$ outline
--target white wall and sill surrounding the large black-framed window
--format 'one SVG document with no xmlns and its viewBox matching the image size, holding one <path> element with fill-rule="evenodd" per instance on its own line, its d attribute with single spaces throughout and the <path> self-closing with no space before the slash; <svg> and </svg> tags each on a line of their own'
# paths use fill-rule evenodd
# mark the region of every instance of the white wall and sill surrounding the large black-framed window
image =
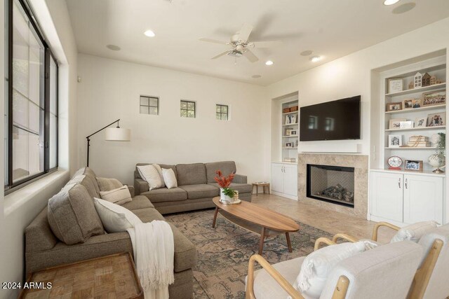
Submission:
<svg viewBox="0 0 449 299">
<path fill-rule="evenodd" d="M 4 197 L 0 185 L 0 281 L 24 279 L 24 230 L 32 219 L 45 207 L 50 198 L 64 185 L 69 170 L 74 172 L 76 155 L 69 148 L 76 148 L 76 57 L 77 50 L 65 1 L 32 0 L 36 16 L 46 33 L 49 43 L 60 62 L 59 74 L 59 157 L 60 170 L 39 181 Z M 0 57 L 4 57 L 4 0 L 0 0 Z M 0 77 L 4 78 L 4 60 L 1 60 Z M 0 84 L 0 113 L 4 110 L 4 85 Z M 70 110 L 69 110 L 70 109 Z M 4 122 L 0 122 L 4 132 Z M 70 138 L 69 138 L 70 134 Z M 0 146 L 0 156 L 4 148 Z M 4 159 L 0 159 L 0 181 L 4 181 Z M 15 298 L 18 290 L 0 291 L 0 298 Z"/>
</svg>

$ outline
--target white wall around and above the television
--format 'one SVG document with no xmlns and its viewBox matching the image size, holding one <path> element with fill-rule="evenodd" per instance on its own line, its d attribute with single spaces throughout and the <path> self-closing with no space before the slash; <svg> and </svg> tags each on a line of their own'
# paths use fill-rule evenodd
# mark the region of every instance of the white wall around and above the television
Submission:
<svg viewBox="0 0 449 299">
<path fill-rule="evenodd" d="M 355 148 L 356 144 L 362 144 L 361 153 L 368 155 L 370 153 L 370 101 L 372 100 L 370 98 L 371 70 L 448 48 L 448 36 L 449 18 L 446 18 L 269 85 L 269 97 L 273 99 L 299 90 L 300 106 L 307 106 L 361 95 L 361 140 L 307 141 L 300 143 L 298 151 L 302 151 L 302 148 L 307 148 L 307 151 L 322 151 L 324 147 L 351 149 Z"/>
</svg>

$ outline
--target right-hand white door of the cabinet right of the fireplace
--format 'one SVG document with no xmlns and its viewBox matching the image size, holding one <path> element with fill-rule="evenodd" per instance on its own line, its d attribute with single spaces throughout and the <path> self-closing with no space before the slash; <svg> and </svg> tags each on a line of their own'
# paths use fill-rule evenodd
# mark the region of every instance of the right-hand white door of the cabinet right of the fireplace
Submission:
<svg viewBox="0 0 449 299">
<path fill-rule="evenodd" d="M 404 222 L 443 223 L 443 178 L 404 175 Z"/>
</svg>

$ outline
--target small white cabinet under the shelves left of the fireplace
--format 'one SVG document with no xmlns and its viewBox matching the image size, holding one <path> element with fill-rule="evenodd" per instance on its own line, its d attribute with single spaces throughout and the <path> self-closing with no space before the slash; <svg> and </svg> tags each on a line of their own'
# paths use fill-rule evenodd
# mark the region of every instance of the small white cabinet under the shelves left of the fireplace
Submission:
<svg viewBox="0 0 449 299">
<path fill-rule="evenodd" d="M 272 193 L 297 200 L 297 165 L 272 163 Z"/>
</svg>

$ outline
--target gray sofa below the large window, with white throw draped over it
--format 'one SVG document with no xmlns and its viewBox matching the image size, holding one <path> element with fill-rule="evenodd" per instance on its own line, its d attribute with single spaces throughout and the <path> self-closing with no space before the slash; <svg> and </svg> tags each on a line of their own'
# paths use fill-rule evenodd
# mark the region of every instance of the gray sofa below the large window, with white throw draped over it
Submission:
<svg viewBox="0 0 449 299">
<path fill-rule="evenodd" d="M 79 182 L 80 188 L 86 191 L 84 194 L 88 197 L 100 198 L 100 189 L 95 179 L 95 173 L 86 167 L 79 174 L 85 176 Z M 133 195 L 132 189 L 130 188 L 131 195 Z M 122 206 L 133 211 L 144 222 L 164 220 L 159 211 L 154 209 L 152 202 L 143 195 L 134 196 L 132 201 Z M 192 298 L 194 281 L 192 268 L 196 265 L 196 248 L 185 235 L 182 235 L 175 225 L 169 224 L 173 230 L 175 243 L 175 282 L 168 287 L 169 295 L 170 298 Z M 48 223 L 47 207 L 25 229 L 25 266 L 27 274 L 46 267 L 122 252 L 129 252 L 133 255 L 133 246 L 128 232 L 93 235 L 88 237 L 85 242 L 73 245 L 61 242 L 55 236 Z"/>
</svg>

